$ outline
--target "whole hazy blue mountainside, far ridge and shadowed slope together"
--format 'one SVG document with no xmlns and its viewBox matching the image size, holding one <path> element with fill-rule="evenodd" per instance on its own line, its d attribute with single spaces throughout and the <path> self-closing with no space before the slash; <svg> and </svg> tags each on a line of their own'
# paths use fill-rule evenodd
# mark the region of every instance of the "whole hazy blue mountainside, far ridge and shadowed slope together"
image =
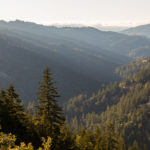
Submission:
<svg viewBox="0 0 150 150">
<path fill-rule="evenodd" d="M 145 52 L 130 54 L 146 46 L 150 47 L 146 37 L 92 27 L 57 28 L 19 20 L 1 21 L 1 86 L 12 82 L 26 103 L 35 100 L 42 70 L 49 66 L 65 101 L 118 80 L 115 68 L 143 56 Z"/>
</svg>

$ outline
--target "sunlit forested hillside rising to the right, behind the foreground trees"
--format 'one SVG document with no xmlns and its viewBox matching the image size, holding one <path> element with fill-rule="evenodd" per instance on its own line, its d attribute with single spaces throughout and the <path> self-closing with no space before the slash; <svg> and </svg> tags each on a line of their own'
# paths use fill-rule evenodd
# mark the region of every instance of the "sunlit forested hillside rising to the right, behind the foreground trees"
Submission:
<svg viewBox="0 0 150 150">
<path fill-rule="evenodd" d="M 72 130 L 104 128 L 110 121 L 122 132 L 127 145 L 137 141 L 140 149 L 149 149 L 150 141 L 150 57 L 117 69 L 119 83 L 104 86 L 91 97 L 79 95 L 64 106 Z"/>
</svg>

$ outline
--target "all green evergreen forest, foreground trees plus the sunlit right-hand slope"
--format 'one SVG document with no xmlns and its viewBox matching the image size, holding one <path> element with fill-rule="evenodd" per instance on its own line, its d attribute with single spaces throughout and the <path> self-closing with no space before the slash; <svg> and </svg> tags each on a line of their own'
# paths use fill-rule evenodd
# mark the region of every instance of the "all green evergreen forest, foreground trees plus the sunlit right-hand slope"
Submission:
<svg viewBox="0 0 150 150">
<path fill-rule="evenodd" d="M 12 84 L 0 92 L 2 150 L 149 150 L 150 57 L 116 69 L 113 82 L 62 108 L 47 67 L 37 103 L 25 108 Z"/>
</svg>

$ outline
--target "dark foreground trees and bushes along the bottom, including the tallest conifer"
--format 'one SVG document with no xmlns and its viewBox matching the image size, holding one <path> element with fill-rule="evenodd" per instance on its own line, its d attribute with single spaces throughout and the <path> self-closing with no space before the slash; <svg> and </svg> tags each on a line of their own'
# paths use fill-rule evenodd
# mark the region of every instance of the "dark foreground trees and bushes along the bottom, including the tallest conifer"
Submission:
<svg viewBox="0 0 150 150">
<path fill-rule="evenodd" d="M 38 104 L 26 110 L 13 85 L 0 92 L 0 149 L 126 150 L 124 139 L 111 123 L 95 131 L 73 133 L 65 125 L 59 94 L 49 68 L 40 83 Z M 9 134 L 12 133 L 12 134 Z M 21 143 L 23 142 L 23 143 Z M 130 149 L 137 148 L 133 143 Z M 39 148 L 40 147 L 40 148 Z"/>
</svg>

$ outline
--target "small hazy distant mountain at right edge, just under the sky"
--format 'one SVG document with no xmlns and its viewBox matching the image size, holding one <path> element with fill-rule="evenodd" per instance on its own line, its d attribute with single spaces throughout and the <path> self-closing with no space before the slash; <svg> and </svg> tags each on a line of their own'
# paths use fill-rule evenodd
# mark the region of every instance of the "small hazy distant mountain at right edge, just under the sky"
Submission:
<svg viewBox="0 0 150 150">
<path fill-rule="evenodd" d="M 150 38 L 150 24 L 141 25 L 141 26 L 137 26 L 134 28 L 129 28 L 129 29 L 121 31 L 121 33 L 125 33 L 128 35 L 146 36 Z"/>
</svg>

